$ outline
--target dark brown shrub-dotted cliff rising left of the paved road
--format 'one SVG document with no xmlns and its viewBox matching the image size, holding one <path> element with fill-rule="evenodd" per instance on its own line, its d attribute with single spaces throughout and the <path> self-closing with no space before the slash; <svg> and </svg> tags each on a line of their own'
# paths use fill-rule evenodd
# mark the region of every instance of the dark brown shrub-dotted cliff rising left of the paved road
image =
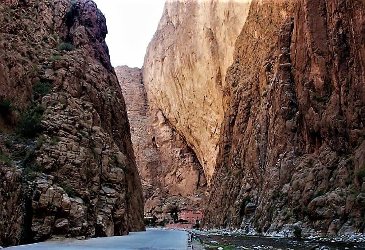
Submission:
<svg viewBox="0 0 365 250">
<path fill-rule="evenodd" d="M 144 230 L 122 93 L 91 0 L 0 3 L 0 245 Z"/>
</svg>

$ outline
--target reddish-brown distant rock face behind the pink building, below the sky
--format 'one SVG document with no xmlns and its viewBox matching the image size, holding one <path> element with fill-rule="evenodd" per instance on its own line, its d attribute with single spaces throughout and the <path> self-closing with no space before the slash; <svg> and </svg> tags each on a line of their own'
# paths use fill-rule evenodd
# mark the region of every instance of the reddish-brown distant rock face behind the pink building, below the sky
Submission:
<svg viewBox="0 0 365 250">
<path fill-rule="evenodd" d="M 119 66 L 115 72 L 127 104 L 144 212 L 158 215 L 167 207 L 201 208 L 206 180 L 194 151 L 147 100 L 141 70 Z"/>
</svg>

